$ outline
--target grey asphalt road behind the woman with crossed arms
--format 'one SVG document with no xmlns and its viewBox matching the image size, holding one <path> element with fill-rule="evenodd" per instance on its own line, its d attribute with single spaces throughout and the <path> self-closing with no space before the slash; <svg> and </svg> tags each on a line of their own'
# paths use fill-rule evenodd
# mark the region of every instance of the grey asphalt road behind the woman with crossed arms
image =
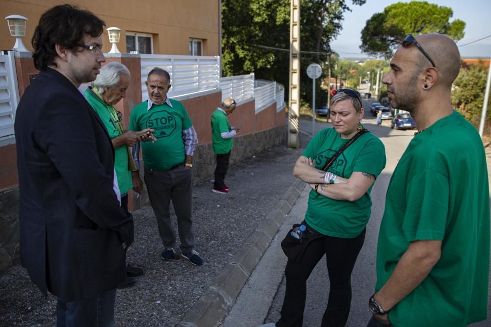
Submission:
<svg viewBox="0 0 491 327">
<path fill-rule="evenodd" d="M 369 107 L 371 102 L 373 100 L 364 101 L 364 106 Z M 377 239 L 385 204 L 385 193 L 390 176 L 414 133 L 411 130 L 390 129 L 390 121 L 388 120 L 383 121 L 382 126 L 377 126 L 375 117 L 369 111 L 365 113 L 362 123 L 381 138 L 385 145 L 387 164 L 372 189 L 372 215 L 367 225 L 365 244 L 358 255 L 352 276 L 353 299 L 346 325 L 348 327 L 366 326 L 370 319 L 371 314 L 367 311 L 367 301 L 375 288 Z M 327 127 L 331 127 L 331 125 L 316 122 L 315 129 L 318 132 Z M 302 120 L 300 128 L 310 134 L 312 130 L 311 121 Z M 309 137 L 310 135 L 303 132 L 302 136 Z M 488 154 L 488 162 L 491 162 L 490 154 Z M 223 327 L 255 327 L 279 319 L 284 298 L 284 267 L 286 264 L 286 257 L 279 244 L 290 226 L 302 220 L 306 210 L 308 191 L 309 187 L 307 186 L 243 288 L 235 305 L 224 320 Z M 325 259 L 321 259 L 307 281 L 307 302 L 303 326 L 320 326 L 327 305 L 328 285 Z M 488 320 L 472 326 L 491 326 L 491 303 L 488 305 Z"/>
</svg>

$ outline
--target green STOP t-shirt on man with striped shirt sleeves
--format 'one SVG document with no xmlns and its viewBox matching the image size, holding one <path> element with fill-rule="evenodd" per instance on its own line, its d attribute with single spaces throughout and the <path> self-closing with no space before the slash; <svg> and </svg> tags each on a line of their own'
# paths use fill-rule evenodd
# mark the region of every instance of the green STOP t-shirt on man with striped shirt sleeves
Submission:
<svg viewBox="0 0 491 327">
<path fill-rule="evenodd" d="M 170 100 L 172 107 L 167 103 L 153 104 L 150 110 L 148 102 L 138 104 L 130 116 L 130 129 L 142 130 L 153 128 L 155 142 L 142 142 L 143 161 L 145 167 L 159 171 L 184 162 L 185 147 L 183 130 L 192 126 L 184 105 L 176 100 Z"/>
</svg>

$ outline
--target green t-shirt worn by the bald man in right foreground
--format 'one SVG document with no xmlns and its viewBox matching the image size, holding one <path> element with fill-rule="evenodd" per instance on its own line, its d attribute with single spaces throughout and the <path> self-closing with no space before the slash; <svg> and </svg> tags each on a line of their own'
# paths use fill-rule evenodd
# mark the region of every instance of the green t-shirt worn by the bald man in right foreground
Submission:
<svg viewBox="0 0 491 327">
<path fill-rule="evenodd" d="M 441 257 L 390 310 L 392 326 L 460 327 L 485 320 L 488 170 L 476 128 L 456 111 L 414 136 L 392 175 L 379 233 L 377 290 L 417 240 L 441 240 Z"/>
</svg>

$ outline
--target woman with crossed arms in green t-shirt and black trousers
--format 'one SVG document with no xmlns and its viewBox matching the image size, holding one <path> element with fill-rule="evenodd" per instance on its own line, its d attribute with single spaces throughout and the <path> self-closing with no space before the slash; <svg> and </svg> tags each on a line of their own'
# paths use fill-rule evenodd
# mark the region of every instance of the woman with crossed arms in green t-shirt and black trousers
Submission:
<svg viewBox="0 0 491 327">
<path fill-rule="evenodd" d="M 295 164 L 293 175 L 312 188 L 302 225 L 307 227 L 307 235 L 313 230 L 317 236 L 311 236 L 300 259 L 288 258 L 281 318 L 263 327 L 302 326 L 306 282 L 324 255 L 330 288 L 321 326 L 346 325 L 351 308 L 351 274 L 371 213 L 370 192 L 385 167 L 382 141 L 370 132 L 362 132 L 364 112 L 357 91 L 337 90 L 329 104 L 333 128 L 317 133 Z M 335 153 L 358 132 L 364 134 L 324 171 Z"/>
</svg>

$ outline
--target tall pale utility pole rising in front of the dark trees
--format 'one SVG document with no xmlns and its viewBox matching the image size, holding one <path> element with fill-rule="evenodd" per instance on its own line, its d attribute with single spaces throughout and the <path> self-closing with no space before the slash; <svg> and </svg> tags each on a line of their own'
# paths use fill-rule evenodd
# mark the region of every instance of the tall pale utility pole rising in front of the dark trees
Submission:
<svg viewBox="0 0 491 327">
<path fill-rule="evenodd" d="M 298 149 L 300 117 L 300 0 L 290 2 L 290 85 L 288 86 L 288 147 Z"/>
</svg>

